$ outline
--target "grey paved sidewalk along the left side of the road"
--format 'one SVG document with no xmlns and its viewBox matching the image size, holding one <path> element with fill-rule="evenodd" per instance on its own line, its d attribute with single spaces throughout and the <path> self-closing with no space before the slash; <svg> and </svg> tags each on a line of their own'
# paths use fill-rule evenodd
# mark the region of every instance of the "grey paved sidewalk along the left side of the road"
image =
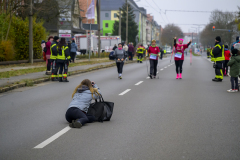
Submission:
<svg viewBox="0 0 240 160">
<path fill-rule="evenodd" d="M 88 60 L 77 60 L 76 62 L 84 62 Z M 83 65 L 83 66 L 75 66 L 75 67 L 69 67 L 69 72 L 72 71 L 80 71 L 80 70 L 86 70 L 92 67 L 97 67 L 101 65 L 109 65 L 113 64 L 115 61 L 109 61 L 109 62 L 103 62 L 103 63 L 97 63 L 97 64 L 91 64 L 91 65 Z M 39 67 L 39 66 L 27 66 L 27 67 L 13 67 L 13 68 L 3 68 L 0 69 L 0 72 L 6 72 L 6 71 L 12 71 L 12 70 L 19 70 L 19 69 L 28 69 L 28 68 L 34 68 L 34 67 Z M 42 66 L 41 66 L 42 67 Z M 13 76 L 10 78 L 2 78 L 0 79 L 0 87 L 6 86 L 6 85 L 11 85 L 13 83 L 16 83 L 21 80 L 26 80 L 26 79 L 38 79 L 38 78 L 48 78 L 50 77 L 49 75 L 45 75 L 45 71 L 43 72 L 36 72 L 36 73 L 29 73 L 25 75 L 20 75 L 20 76 Z"/>
</svg>

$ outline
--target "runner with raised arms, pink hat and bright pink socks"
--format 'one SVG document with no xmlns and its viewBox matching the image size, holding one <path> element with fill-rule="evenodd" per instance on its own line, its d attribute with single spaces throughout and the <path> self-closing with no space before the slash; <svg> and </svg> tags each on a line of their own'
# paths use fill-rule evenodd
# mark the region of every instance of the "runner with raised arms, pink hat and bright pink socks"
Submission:
<svg viewBox="0 0 240 160">
<path fill-rule="evenodd" d="M 192 43 L 192 40 L 188 42 L 188 44 L 183 44 L 183 39 L 178 40 L 178 44 L 176 43 L 177 37 L 174 38 L 174 47 L 175 47 L 175 65 L 176 65 L 176 79 L 182 79 L 182 65 L 184 61 L 184 50 L 188 48 L 188 46 Z M 179 74 L 180 73 L 180 74 Z"/>
</svg>

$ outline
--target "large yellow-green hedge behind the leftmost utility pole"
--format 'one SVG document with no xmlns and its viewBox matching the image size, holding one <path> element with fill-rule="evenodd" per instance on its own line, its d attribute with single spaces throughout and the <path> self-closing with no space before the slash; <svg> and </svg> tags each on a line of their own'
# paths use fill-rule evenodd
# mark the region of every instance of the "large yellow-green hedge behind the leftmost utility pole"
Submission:
<svg viewBox="0 0 240 160">
<path fill-rule="evenodd" d="M 0 31 L 0 36 L 5 38 L 8 23 L 10 21 L 10 17 L 6 17 L 6 15 L 0 15 L 0 22 L 2 30 Z M 36 22 L 36 18 L 33 18 L 33 58 L 40 59 L 42 57 L 42 49 L 41 49 L 41 41 L 45 40 L 47 37 L 47 33 L 45 28 L 43 27 L 43 21 Z M 1 37 L 0 37 L 1 38 Z M 13 16 L 12 23 L 10 27 L 10 32 L 8 39 L 13 43 L 13 47 L 15 49 L 15 57 L 12 59 L 15 60 L 26 60 L 28 59 L 29 53 L 29 20 L 28 18 L 22 19 L 20 17 Z M 5 53 L 6 54 L 6 53 Z M 1 55 L 0 55 L 1 56 Z M 1 59 L 2 60 L 2 59 Z"/>
</svg>

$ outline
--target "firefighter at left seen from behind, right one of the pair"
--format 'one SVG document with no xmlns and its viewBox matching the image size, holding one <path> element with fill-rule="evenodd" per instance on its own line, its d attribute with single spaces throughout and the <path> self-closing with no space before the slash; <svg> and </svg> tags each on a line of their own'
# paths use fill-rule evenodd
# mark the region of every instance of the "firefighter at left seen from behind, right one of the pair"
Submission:
<svg viewBox="0 0 240 160">
<path fill-rule="evenodd" d="M 70 51 L 65 38 L 61 38 L 57 46 L 57 49 L 58 49 L 58 55 L 57 55 L 56 62 L 57 62 L 57 68 L 59 68 L 58 80 L 59 82 L 69 82 L 67 80 L 67 72 L 68 72 L 69 61 L 71 62 L 71 57 L 70 57 Z"/>
</svg>

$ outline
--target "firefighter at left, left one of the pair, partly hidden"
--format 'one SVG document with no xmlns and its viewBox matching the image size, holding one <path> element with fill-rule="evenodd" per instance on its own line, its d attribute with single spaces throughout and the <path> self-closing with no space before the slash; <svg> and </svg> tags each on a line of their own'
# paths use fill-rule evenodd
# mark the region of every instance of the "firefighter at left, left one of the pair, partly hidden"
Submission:
<svg viewBox="0 0 240 160">
<path fill-rule="evenodd" d="M 52 81 L 58 81 L 58 77 L 57 77 L 58 68 L 56 66 L 56 58 L 58 54 L 58 51 L 57 51 L 58 41 L 59 41 L 59 37 L 55 36 L 53 38 L 53 42 L 51 43 L 51 47 L 50 47 L 51 55 L 50 55 L 50 58 L 48 59 L 48 63 L 51 64 L 51 68 L 52 68 L 52 75 L 51 75 Z"/>
</svg>

